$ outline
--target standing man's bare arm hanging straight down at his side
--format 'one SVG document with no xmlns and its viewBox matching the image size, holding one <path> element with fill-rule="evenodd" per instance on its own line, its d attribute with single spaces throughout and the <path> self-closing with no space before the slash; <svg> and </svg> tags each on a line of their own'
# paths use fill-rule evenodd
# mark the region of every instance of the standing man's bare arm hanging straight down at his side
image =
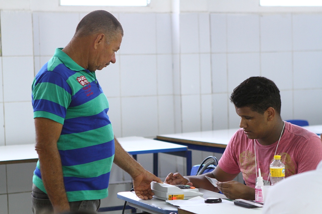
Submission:
<svg viewBox="0 0 322 214">
<path fill-rule="evenodd" d="M 62 162 L 57 141 L 62 132 L 62 124 L 53 120 L 36 117 L 36 151 L 46 192 L 55 213 L 69 211 L 69 203 L 64 187 Z"/>
</svg>

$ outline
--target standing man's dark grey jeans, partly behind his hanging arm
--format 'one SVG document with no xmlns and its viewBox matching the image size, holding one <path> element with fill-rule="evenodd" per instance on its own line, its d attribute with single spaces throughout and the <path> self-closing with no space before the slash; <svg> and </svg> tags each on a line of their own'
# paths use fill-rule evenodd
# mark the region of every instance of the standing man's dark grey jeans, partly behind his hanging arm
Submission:
<svg viewBox="0 0 322 214">
<path fill-rule="evenodd" d="M 32 210 L 34 214 L 52 214 L 53 208 L 48 195 L 33 184 L 31 193 Z M 100 206 L 100 200 L 86 200 L 69 202 L 72 212 L 82 211 L 96 214 Z"/>
</svg>

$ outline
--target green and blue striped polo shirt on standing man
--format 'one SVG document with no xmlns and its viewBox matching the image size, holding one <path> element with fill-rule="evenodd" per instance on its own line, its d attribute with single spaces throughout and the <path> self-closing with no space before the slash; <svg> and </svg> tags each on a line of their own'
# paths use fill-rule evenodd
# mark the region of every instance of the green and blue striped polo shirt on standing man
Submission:
<svg viewBox="0 0 322 214">
<path fill-rule="evenodd" d="M 95 72 L 85 70 L 57 48 L 34 78 L 32 91 L 34 118 L 63 124 L 57 147 L 68 201 L 107 197 L 114 134 L 107 115 L 109 103 Z M 33 183 L 46 193 L 40 164 Z"/>
</svg>

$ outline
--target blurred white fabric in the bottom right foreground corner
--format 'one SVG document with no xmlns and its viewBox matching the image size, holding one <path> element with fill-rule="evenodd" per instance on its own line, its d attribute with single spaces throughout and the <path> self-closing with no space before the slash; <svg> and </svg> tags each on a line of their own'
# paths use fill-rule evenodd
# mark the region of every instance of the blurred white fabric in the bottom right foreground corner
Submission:
<svg viewBox="0 0 322 214">
<path fill-rule="evenodd" d="M 270 189 L 263 214 L 321 213 L 322 161 L 316 170 L 292 175 Z"/>
</svg>

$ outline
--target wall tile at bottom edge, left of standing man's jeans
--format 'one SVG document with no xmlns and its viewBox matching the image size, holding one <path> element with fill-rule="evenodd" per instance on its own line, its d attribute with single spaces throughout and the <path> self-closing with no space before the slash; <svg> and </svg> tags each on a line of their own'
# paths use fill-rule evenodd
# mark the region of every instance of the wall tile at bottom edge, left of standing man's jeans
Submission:
<svg viewBox="0 0 322 214">
<path fill-rule="evenodd" d="M 8 195 L 9 213 L 32 214 L 30 193 L 14 193 Z"/>
</svg>

